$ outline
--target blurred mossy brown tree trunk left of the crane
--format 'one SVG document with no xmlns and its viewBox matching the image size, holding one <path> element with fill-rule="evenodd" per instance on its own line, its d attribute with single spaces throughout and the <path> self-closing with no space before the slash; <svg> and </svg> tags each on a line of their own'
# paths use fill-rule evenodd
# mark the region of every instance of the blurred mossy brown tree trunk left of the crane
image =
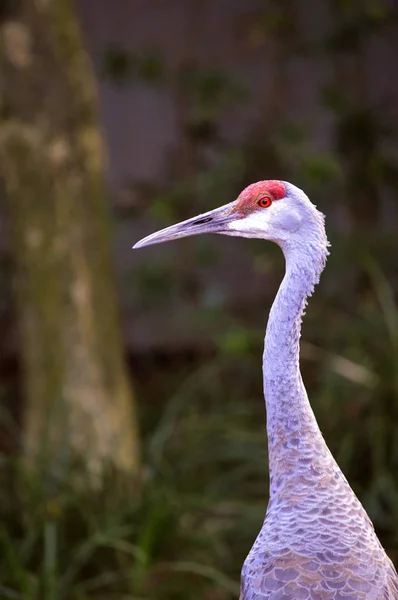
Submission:
<svg viewBox="0 0 398 600">
<path fill-rule="evenodd" d="M 69 0 L 0 4 L 0 168 L 24 365 L 25 449 L 137 472 L 94 84 Z"/>
</svg>

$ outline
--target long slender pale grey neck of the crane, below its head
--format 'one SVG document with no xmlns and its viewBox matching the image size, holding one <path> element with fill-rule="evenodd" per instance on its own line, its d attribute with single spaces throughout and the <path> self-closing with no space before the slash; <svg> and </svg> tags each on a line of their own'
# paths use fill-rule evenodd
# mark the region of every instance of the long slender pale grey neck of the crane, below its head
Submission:
<svg viewBox="0 0 398 600">
<path fill-rule="evenodd" d="M 319 221 L 314 238 L 283 244 L 286 273 L 270 311 L 264 342 L 263 377 L 267 408 L 270 497 L 303 484 L 303 473 L 340 471 L 308 401 L 299 364 L 301 321 L 328 254 Z M 318 216 L 317 215 L 317 216 Z M 321 227 L 319 227 L 321 225 Z M 323 466 L 322 466 L 323 465 Z"/>
</svg>

